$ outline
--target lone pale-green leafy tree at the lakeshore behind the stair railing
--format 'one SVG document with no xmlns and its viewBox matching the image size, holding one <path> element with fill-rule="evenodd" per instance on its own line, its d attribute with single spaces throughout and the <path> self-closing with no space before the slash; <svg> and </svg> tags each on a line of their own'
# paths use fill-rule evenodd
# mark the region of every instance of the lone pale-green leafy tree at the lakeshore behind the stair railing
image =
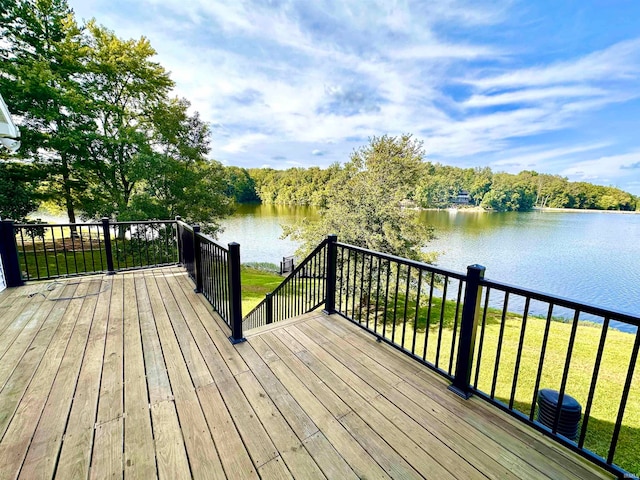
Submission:
<svg viewBox="0 0 640 480">
<path fill-rule="evenodd" d="M 411 135 L 371 138 L 354 151 L 328 191 L 317 222 L 285 229 L 309 251 L 327 234 L 340 241 L 394 255 L 426 259 L 432 229 L 401 202 L 415 190 L 424 164 L 422 143 Z"/>
</svg>

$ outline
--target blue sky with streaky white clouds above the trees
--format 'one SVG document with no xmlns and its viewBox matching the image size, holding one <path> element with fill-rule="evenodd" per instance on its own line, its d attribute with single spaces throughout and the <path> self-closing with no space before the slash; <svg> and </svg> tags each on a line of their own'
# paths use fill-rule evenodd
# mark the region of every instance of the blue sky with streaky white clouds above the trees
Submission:
<svg viewBox="0 0 640 480">
<path fill-rule="evenodd" d="M 146 36 L 241 167 L 328 166 L 372 135 L 427 159 L 640 195 L 640 1 L 70 0 Z"/>
</svg>

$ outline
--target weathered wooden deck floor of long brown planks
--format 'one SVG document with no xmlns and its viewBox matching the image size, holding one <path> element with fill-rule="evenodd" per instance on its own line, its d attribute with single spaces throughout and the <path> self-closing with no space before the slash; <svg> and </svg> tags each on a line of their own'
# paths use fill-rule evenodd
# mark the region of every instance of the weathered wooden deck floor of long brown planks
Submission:
<svg viewBox="0 0 640 480">
<path fill-rule="evenodd" d="M 608 477 L 341 318 L 232 346 L 179 268 L 6 290 L 0 332 L 2 479 Z"/>
</svg>

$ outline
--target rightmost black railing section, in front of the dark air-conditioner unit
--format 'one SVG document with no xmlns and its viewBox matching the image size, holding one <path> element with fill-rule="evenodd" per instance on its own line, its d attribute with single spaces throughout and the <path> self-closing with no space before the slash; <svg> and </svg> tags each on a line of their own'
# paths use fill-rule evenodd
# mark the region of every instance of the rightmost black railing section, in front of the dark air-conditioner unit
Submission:
<svg viewBox="0 0 640 480">
<path fill-rule="evenodd" d="M 616 452 L 622 448 L 628 459 L 635 451 L 637 469 L 640 318 L 499 282 L 479 284 L 473 392 L 617 474 L 625 474 L 617 465 L 632 465 L 616 461 Z M 576 400 L 580 422 L 567 426 L 560 408 L 541 415 L 542 389 L 557 392 L 558 405 Z"/>
</svg>

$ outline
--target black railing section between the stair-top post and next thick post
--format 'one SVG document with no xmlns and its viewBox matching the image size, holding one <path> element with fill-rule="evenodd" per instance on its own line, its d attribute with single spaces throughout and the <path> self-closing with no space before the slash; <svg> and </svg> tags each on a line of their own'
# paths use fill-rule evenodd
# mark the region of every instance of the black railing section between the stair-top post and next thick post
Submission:
<svg viewBox="0 0 640 480">
<path fill-rule="evenodd" d="M 465 276 L 337 243 L 335 311 L 453 379 Z"/>
</svg>

